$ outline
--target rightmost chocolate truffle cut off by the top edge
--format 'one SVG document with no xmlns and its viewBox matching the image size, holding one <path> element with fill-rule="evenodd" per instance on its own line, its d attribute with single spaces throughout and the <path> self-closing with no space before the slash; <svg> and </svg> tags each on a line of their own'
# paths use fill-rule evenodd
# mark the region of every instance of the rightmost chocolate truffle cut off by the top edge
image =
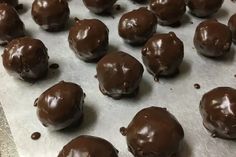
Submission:
<svg viewBox="0 0 236 157">
<path fill-rule="evenodd" d="M 190 12 L 197 17 L 207 17 L 216 13 L 224 0 L 186 0 Z"/>
</svg>

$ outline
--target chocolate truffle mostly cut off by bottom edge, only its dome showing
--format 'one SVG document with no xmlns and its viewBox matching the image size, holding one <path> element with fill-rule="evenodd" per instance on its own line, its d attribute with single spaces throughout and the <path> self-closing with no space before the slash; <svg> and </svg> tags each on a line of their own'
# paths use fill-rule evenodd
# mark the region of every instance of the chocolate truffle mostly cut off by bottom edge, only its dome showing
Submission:
<svg viewBox="0 0 236 157">
<path fill-rule="evenodd" d="M 118 151 L 105 139 L 81 135 L 60 151 L 58 157 L 118 157 Z"/>
</svg>

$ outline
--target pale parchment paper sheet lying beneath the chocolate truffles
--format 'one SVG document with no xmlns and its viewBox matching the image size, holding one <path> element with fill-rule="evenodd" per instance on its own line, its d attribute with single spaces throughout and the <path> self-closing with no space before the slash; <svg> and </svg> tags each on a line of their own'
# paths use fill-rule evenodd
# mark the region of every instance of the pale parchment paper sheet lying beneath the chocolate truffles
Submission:
<svg viewBox="0 0 236 157">
<path fill-rule="evenodd" d="M 30 16 L 31 1 L 21 0 L 26 12 L 21 14 L 28 34 L 41 39 L 48 47 L 51 63 L 58 63 L 58 70 L 50 70 L 46 79 L 34 84 L 10 77 L 0 66 L 0 101 L 5 111 L 18 153 L 21 157 L 53 157 L 71 139 L 81 135 L 95 135 L 109 140 L 118 150 L 120 157 L 132 157 L 128 152 L 125 137 L 119 133 L 121 126 L 127 126 L 135 113 L 144 107 L 166 107 L 176 116 L 185 131 L 181 157 L 235 157 L 236 142 L 212 138 L 202 125 L 199 114 L 199 101 L 203 93 L 217 86 L 235 87 L 236 63 L 232 46 L 231 53 L 224 59 L 214 61 L 199 56 L 193 46 L 193 35 L 201 19 L 186 13 L 179 28 L 157 27 L 158 33 L 174 31 L 183 40 L 185 58 L 180 74 L 175 78 L 161 79 L 159 83 L 144 72 L 140 91 L 136 98 L 113 100 L 101 94 L 98 81 L 94 78 L 96 64 L 85 63 L 75 57 L 69 49 L 67 31 L 48 33 L 41 30 Z M 115 11 L 114 17 L 97 16 L 90 13 L 81 0 L 69 1 L 71 18 L 98 18 L 110 29 L 110 50 L 122 50 L 141 61 L 140 47 L 124 44 L 118 36 L 117 24 L 122 12 L 142 5 L 127 0 L 118 0 L 121 11 Z M 227 0 L 222 9 L 214 15 L 220 22 L 227 23 L 236 11 L 236 3 Z M 192 23 L 193 22 L 193 23 Z M 1 51 L 3 49 L 1 48 Z M 33 106 L 35 98 L 60 80 L 78 83 L 84 89 L 85 118 L 83 124 L 74 129 L 52 132 L 44 128 L 36 116 Z M 200 90 L 193 85 L 199 83 Z M 41 133 L 38 141 L 30 136 Z"/>
</svg>

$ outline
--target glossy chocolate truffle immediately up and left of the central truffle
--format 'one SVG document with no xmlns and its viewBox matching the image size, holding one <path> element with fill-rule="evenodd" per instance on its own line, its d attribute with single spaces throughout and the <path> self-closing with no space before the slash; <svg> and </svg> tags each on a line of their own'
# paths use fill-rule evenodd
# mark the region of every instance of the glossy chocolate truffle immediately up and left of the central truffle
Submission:
<svg viewBox="0 0 236 157">
<path fill-rule="evenodd" d="M 94 61 L 105 55 L 108 49 L 107 26 L 97 19 L 76 20 L 70 29 L 68 41 L 77 57 Z"/>
</svg>

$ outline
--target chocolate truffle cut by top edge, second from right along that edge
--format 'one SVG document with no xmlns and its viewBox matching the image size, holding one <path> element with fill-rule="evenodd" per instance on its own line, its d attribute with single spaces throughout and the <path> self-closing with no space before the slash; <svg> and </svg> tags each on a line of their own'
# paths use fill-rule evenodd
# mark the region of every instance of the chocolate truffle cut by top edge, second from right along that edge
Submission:
<svg viewBox="0 0 236 157">
<path fill-rule="evenodd" d="M 185 0 L 150 0 L 149 6 L 161 25 L 179 22 L 186 11 Z"/>
</svg>

